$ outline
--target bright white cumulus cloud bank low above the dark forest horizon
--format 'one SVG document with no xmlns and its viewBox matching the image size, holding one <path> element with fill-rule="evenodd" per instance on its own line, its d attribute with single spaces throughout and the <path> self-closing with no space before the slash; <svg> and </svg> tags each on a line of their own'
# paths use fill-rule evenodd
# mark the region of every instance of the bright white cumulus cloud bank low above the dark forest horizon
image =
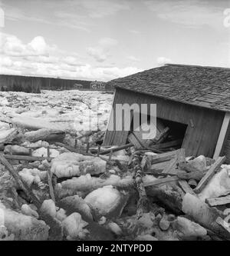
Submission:
<svg viewBox="0 0 230 256">
<path fill-rule="evenodd" d="M 108 65 L 94 67 L 87 63 L 83 64 L 79 62 L 76 54 L 66 55 L 66 52 L 55 47 L 52 48 L 41 36 L 33 38 L 27 44 L 21 42 L 15 35 L 4 34 L 2 38 L 3 40 L 0 42 L 2 44 L 0 45 L 2 49 L 0 52 L 1 74 L 109 81 L 140 71 L 135 67 L 117 68 Z M 115 42 L 115 40 L 103 38 L 98 45 L 100 47 L 104 45 L 108 49 Z M 94 49 L 90 49 L 90 51 L 98 61 L 104 61 L 107 58 L 104 52 L 97 52 Z"/>
</svg>

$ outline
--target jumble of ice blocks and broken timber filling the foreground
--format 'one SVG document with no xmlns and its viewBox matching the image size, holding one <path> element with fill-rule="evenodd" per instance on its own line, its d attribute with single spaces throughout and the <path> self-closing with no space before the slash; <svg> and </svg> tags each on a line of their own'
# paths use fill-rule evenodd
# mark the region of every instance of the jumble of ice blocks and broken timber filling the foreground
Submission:
<svg viewBox="0 0 230 256">
<path fill-rule="evenodd" d="M 0 240 L 230 240 L 225 156 L 187 156 L 163 124 L 105 147 L 100 129 L 1 120 Z"/>
</svg>

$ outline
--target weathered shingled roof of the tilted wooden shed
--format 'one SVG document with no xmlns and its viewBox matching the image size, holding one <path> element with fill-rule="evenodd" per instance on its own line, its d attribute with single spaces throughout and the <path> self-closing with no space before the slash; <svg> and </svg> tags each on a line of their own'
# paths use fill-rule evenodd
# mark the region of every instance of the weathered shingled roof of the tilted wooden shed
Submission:
<svg viewBox="0 0 230 256">
<path fill-rule="evenodd" d="M 230 111 L 230 68 L 166 64 L 108 81 L 107 85 Z"/>
</svg>

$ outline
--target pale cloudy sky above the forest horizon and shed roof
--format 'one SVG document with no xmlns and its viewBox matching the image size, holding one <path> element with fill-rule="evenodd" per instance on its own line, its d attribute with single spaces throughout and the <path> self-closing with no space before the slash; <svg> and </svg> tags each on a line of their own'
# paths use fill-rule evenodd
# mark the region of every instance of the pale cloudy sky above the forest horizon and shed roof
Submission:
<svg viewBox="0 0 230 256">
<path fill-rule="evenodd" d="M 227 0 L 0 0 L 0 6 L 2 74 L 108 81 L 169 62 L 230 67 Z"/>
</svg>

